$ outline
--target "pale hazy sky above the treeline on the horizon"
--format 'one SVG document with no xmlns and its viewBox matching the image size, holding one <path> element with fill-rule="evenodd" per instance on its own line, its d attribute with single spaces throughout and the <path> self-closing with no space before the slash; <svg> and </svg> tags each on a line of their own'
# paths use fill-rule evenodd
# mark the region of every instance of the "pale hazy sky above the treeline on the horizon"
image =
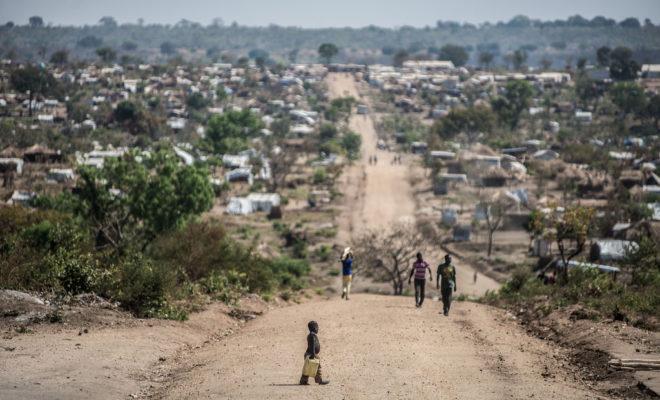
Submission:
<svg viewBox="0 0 660 400">
<path fill-rule="evenodd" d="M 538 19 L 581 14 L 620 20 L 660 21 L 660 0 L 0 0 L 0 22 L 25 24 L 39 15 L 54 25 L 95 24 L 110 15 L 117 21 L 176 23 L 185 18 L 208 24 L 302 27 L 434 25 L 435 21 L 484 22 L 524 14 Z"/>
</svg>

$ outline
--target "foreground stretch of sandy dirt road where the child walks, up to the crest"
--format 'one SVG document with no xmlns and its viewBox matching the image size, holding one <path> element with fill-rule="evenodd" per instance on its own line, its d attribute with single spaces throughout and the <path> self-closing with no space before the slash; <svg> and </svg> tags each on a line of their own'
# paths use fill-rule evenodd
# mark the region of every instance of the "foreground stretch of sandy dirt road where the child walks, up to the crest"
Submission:
<svg viewBox="0 0 660 400">
<path fill-rule="evenodd" d="M 200 352 L 167 399 L 594 399 L 545 342 L 503 312 L 356 295 L 277 309 Z M 306 324 L 319 322 L 330 385 L 297 386 Z M 555 357 L 553 357 L 555 356 Z"/>
</svg>

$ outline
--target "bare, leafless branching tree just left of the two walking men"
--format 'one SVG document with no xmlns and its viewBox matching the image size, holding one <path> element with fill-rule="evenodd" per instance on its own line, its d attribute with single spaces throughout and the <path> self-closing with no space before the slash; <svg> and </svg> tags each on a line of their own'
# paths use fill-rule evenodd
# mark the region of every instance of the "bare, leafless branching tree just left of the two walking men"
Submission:
<svg viewBox="0 0 660 400">
<path fill-rule="evenodd" d="M 389 282 L 394 294 L 401 295 L 415 255 L 428 245 L 427 236 L 416 225 L 398 223 L 362 234 L 356 241 L 355 260 L 360 274 Z"/>
</svg>

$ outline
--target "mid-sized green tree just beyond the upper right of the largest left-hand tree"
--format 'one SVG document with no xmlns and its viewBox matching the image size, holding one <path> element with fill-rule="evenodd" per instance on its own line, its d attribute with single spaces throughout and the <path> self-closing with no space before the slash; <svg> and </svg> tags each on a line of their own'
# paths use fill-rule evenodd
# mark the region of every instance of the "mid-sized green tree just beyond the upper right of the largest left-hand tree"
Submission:
<svg viewBox="0 0 660 400">
<path fill-rule="evenodd" d="M 245 150 L 248 139 L 259 135 L 263 124 L 250 110 L 214 115 L 206 129 L 207 143 L 218 154 Z"/>
</svg>

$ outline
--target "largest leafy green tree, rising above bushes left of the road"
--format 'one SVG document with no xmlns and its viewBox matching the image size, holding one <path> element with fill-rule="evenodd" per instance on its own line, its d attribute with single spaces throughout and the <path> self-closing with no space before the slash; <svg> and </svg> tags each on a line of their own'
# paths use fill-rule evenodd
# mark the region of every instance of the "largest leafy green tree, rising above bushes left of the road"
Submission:
<svg viewBox="0 0 660 400">
<path fill-rule="evenodd" d="M 76 213 L 93 227 L 97 248 L 143 248 L 212 205 L 208 172 L 181 165 L 166 150 L 109 159 L 102 169 L 79 169 Z"/>
</svg>

